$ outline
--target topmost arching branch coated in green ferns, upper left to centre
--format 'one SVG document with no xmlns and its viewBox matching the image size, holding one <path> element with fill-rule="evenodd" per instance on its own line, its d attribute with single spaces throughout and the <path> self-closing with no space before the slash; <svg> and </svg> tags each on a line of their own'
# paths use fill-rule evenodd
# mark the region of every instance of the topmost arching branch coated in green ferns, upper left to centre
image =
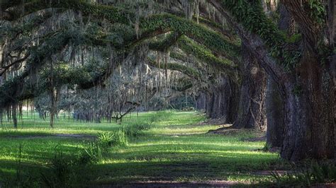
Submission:
<svg viewBox="0 0 336 188">
<path fill-rule="evenodd" d="M 112 23 L 129 24 L 132 18 L 135 18 L 134 13 L 128 11 L 121 12 L 113 6 L 101 6 L 85 3 L 79 0 L 52 0 L 50 4 L 45 4 L 44 1 L 37 1 L 35 3 L 26 4 L 25 12 L 31 13 L 42 8 L 72 8 L 81 11 L 85 16 L 94 16 L 96 18 L 106 18 Z M 206 47 L 217 52 L 218 54 L 225 54 L 229 57 L 237 57 L 240 47 L 231 42 L 226 41 L 221 35 L 215 31 L 209 30 L 202 25 L 198 25 L 185 18 L 179 18 L 169 14 L 154 15 L 148 18 L 141 18 L 139 23 L 142 35 L 151 37 L 146 33 L 155 33 L 158 30 L 174 30 L 183 35 L 187 35 L 194 40 L 206 45 Z M 134 36 L 130 38 L 130 43 L 137 40 Z"/>
</svg>

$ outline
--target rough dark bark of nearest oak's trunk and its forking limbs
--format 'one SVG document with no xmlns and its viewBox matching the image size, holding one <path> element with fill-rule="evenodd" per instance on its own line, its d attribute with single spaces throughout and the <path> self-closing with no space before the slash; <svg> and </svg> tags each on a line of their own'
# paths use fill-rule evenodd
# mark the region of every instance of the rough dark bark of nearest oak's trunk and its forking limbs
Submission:
<svg viewBox="0 0 336 188">
<path fill-rule="evenodd" d="M 304 158 L 333 158 L 335 153 L 334 83 L 330 74 L 331 61 L 320 61 L 318 41 L 323 30 L 311 18 L 307 1 L 282 0 L 303 37 L 302 58 L 291 72 L 269 56 L 269 49 L 257 35 L 247 32 L 235 23 L 220 6 L 219 1 L 209 0 L 237 30 L 242 43 L 257 58 L 267 74 L 279 86 L 285 101 L 285 138 L 281 157 L 288 160 Z M 306 6 L 303 6 L 306 4 Z M 332 40 L 332 39 L 330 39 Z M 324 57 L 325 58 L 325 57 Z"/>
</svg>

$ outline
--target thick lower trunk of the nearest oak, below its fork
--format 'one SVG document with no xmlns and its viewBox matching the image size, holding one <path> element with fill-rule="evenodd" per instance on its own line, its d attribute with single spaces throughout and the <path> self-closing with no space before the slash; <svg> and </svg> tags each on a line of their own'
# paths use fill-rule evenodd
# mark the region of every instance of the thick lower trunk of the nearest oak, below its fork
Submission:
<svg viewBox="0 0 336 188">
<path fill-rule="evenodd" d="M 333 158 L 334 83 L 323 65 L 310 54 L 286 86 L 286 134 L 281 157 L 288 160 Z M 308 62 L 308 63 L 307 63 Z"/>
</svg>

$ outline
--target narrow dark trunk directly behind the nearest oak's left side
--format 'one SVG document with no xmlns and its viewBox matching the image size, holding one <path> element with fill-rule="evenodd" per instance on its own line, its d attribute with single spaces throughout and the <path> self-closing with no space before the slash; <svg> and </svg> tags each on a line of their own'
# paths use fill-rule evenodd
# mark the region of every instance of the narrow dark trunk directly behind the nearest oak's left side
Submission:
<svg viewBox="0 0 336 188">
<path fill-rule="evenodd" d="M 267 114 L 267 144 L 271 147 L 281 147 L 284 141 L 284 100 L 279 88 L 271 78 L 267 79 L 266 95 Z"/>
</svg>

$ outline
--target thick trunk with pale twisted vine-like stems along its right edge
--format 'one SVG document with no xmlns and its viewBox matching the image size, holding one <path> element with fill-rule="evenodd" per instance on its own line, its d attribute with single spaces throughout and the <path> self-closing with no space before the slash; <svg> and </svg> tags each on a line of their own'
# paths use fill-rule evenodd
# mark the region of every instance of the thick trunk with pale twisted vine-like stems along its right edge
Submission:
<svg viewBox="0 0 336 188">
<path fill-rule="evenodd" d="M 267 125 L 266 74 L 247 50 L 244 56 L 239 110 L 233 128 L 265 130 Z"/>
</svg>

